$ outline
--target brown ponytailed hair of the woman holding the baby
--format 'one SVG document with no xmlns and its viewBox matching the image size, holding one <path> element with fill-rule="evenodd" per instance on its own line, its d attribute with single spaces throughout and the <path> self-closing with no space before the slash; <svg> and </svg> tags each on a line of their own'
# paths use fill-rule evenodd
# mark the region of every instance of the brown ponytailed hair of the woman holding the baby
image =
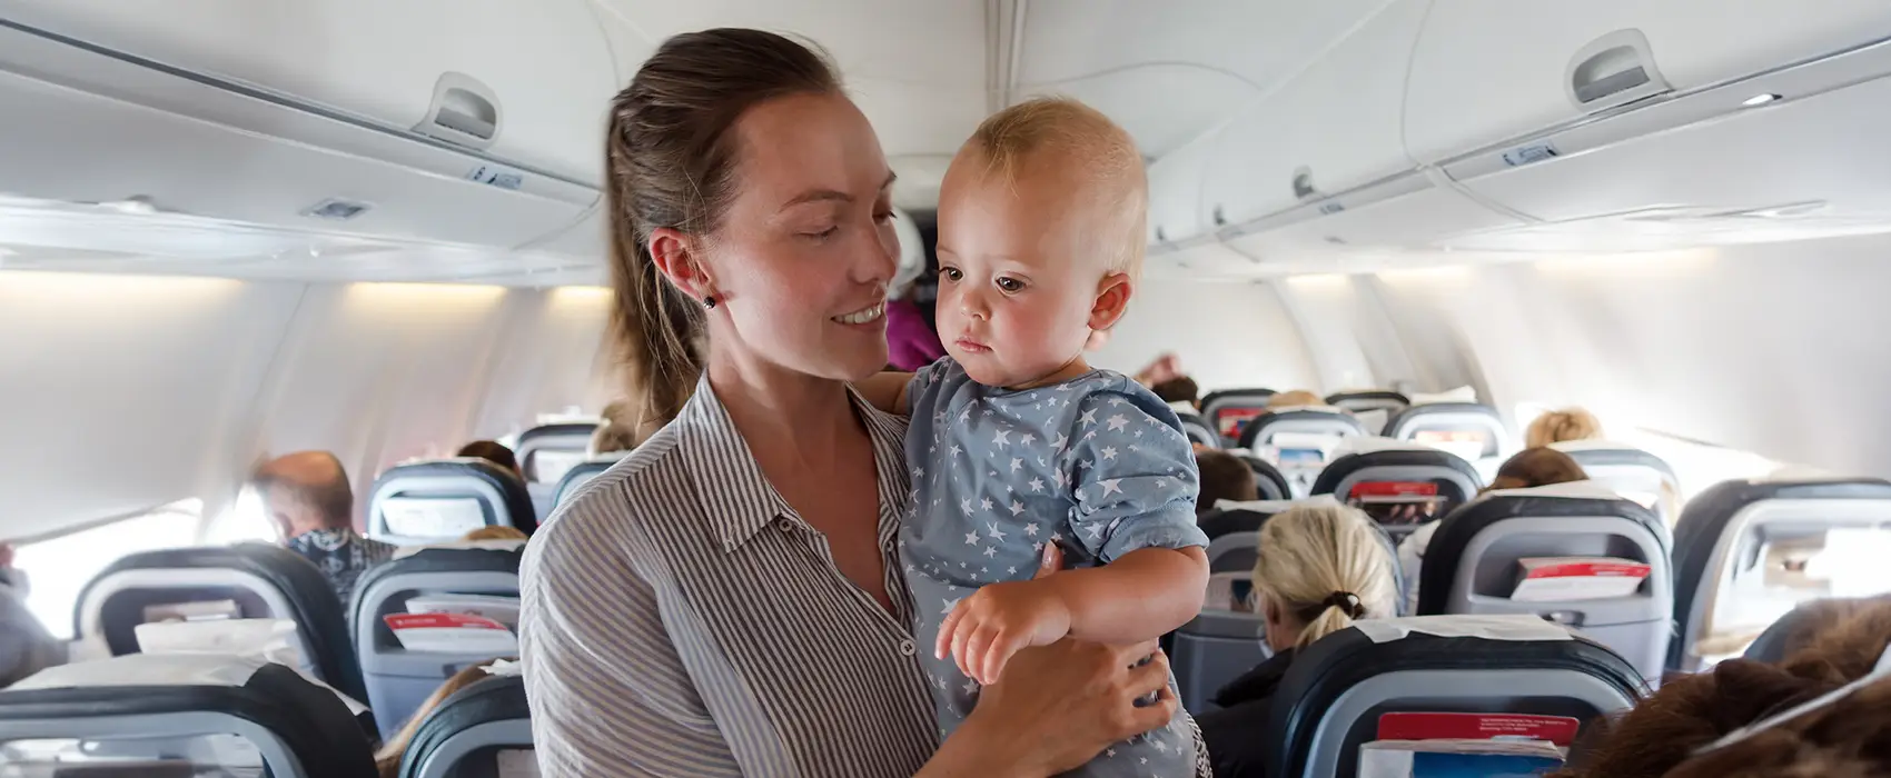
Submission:
<svg viewBox="0 0 1891 778">
<path fill-rule="evenodd" d="M 651 257 L 658 228 L 707 236 L 736 194 L 741 115 L 789 94 L 836 94 L 828 60 L 773 32 L 717 28 L 664 42 L 611 100 L 605 202 L 611 332 L 637 387 L 637 427 L 683 410 L 703 370 L 703 312 Z"/>
</svg>

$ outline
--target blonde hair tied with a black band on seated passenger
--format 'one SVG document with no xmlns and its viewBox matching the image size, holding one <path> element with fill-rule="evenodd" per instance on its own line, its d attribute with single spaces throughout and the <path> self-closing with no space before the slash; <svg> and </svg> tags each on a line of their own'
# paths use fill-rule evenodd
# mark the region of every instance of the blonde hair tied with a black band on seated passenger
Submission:
<svg viewBox="0 0 1891 778">
<path fill-rule="evenodd" d="M 1392 559 L 1371 521 L 1358 508 L 1324 504 L 1261 525 L 1254 589 L 1307 623 L 1295 648 L 1392 612 Z"/>
</svg>

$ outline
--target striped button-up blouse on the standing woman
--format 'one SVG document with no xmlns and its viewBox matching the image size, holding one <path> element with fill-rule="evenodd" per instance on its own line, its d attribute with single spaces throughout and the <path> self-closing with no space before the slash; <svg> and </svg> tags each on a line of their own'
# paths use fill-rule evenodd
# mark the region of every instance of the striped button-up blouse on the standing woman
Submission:
<svg viewBox="0 0 1891 778">
<path fill-rule="evenodd" d="M 707 380 L 520 568 L 545 776 L 911 776 L 938 748 L 894 538 L 904 419 L 868 408 L 887 614 L 762 476 Z"/>
</svg>

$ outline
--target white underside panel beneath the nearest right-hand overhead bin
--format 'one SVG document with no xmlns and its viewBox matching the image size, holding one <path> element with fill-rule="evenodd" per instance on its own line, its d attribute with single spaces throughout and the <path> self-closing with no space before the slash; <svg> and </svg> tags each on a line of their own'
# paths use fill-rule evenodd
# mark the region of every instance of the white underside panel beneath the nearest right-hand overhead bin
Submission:
<svg viewBox="0 0 1891 778">
<path fill-rule="evenodd" d="M 1524 138 L 1445 172 L 1543 223 L 1449 245 L 1634 251 L 1883 232 L 1887 104 L 1891 43 L 1876 43 Z M 1554 153 L 1513 166 L 1515 149 Z"/>
</svg>

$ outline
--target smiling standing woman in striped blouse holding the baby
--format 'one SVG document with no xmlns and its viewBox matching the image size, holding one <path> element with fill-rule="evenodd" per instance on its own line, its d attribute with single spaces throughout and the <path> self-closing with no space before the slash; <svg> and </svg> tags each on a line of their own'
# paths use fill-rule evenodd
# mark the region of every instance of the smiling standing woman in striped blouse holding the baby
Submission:
<svg viewBox="0 0 1891 778">
<path fill-rule="evenodd" d="M 613 330 L 673 417 L 520 570 L 546 776 L 1042 776 L 1174 714 L 1150 646 L 1019 653 L 944 744 L 894 563 L 887 168 L 813 51 L 675 36 L 611 110 Z M 705 347 L 698 347 L 707 334 Z M 917 463 L 915 463 L 917 465 Z M 1014 678 L 1025 678 L 1023 682 Z M 934 753 L 936 750 L 936 753 Z"/>
</svg>

